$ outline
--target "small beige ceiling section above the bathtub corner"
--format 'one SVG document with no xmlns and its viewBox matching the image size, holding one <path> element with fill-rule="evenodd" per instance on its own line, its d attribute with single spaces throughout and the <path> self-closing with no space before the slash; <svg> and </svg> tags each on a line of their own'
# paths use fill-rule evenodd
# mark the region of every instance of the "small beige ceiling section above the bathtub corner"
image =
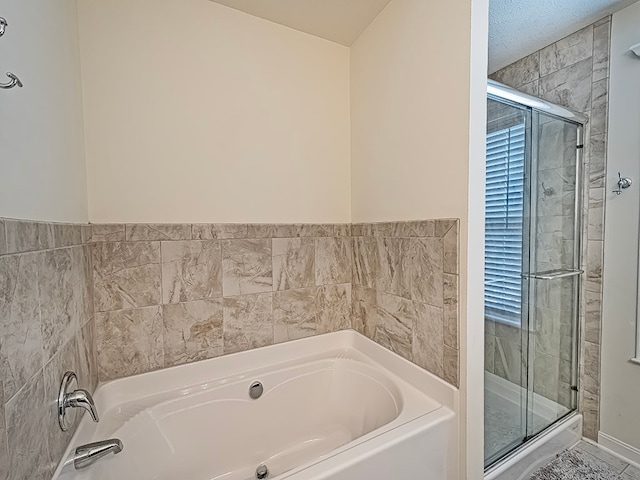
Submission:
<svg viewBox="0 0 640 480">
<path fill-rule="evenodd" d="M 391 0 L 212 0 L 350 47 Z"/>
</svg>

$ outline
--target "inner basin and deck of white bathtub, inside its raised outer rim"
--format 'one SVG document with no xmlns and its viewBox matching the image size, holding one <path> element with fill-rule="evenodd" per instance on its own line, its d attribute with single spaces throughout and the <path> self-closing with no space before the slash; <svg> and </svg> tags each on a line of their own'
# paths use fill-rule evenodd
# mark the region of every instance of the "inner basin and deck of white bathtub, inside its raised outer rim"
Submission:
<svg viewBox="0 0 640 480">
<path fill-rule="evenodd" d="M 269 478 L 288 477 L 442 407 L 350 347 L 187 385 L 125 380 L 98 389 L 98 405 L 110 408 L 97 425 L 83 419 L 72 441 L 118 437 L 123 454 L 83 472 L 61 466 L 54 478 L 239 480 L 261 464 Z M 264 385 L 257 400 L 248 396 L 254 380 Z"/>
</svg>

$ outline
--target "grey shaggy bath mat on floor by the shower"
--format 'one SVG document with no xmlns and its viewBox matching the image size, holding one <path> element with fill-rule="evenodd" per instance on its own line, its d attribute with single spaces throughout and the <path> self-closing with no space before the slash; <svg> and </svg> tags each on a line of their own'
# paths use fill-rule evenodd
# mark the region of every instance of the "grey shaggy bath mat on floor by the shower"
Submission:
<svg viewBox="0 0 640 480">
<path fill-rule="evenodd" d="M 531 480 L 622 480 L 602 460 L 580 450 L 569 450 L 539 468 Z"/>
</svg>

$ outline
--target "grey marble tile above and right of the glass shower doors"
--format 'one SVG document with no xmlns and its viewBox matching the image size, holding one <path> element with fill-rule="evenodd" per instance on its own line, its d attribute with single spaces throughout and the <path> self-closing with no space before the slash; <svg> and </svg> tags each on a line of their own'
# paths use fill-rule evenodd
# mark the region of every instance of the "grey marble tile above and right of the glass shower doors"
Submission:
<svg viewBox="0 0 640 480">
<path fill-rule="evenodd" d="M 606 17 L 491 75 L 494 80 L 589 117 L 585 128 L 583 165 L 585 188 L 581 257 L 586 274 L 583 276 L 580 292 L 579 408 L 584 415 L 585 436 L 594 440 L 599 429 L 600 410 L 610 38 L 611 17 Z"/>
</svg>

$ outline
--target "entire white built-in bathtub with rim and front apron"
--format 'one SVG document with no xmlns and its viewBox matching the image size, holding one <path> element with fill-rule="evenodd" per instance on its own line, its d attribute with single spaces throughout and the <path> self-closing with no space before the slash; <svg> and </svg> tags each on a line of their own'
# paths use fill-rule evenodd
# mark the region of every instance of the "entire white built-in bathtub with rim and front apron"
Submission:
<svg viewBox="0 0 640 480">
<path fill-rule="evenodd" d="M 249 386 L 264 387 L 258 399 Z M 102 384 L 56 480 L 457 478 L 457 391 L 354 331 Z M 124 450 L 83 470 L 79 445 Z"/>
</svg>

